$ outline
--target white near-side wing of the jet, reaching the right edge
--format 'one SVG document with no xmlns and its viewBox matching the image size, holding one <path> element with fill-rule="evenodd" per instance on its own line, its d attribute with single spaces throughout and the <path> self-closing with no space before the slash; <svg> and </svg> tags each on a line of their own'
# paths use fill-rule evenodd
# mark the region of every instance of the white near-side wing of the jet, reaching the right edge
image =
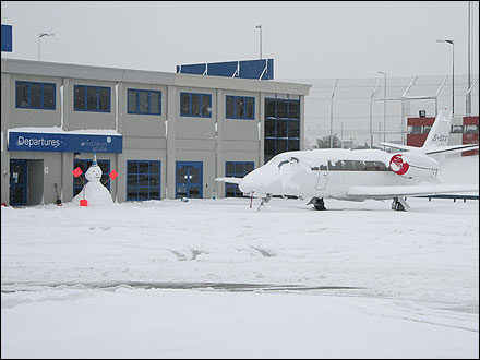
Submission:
<svg viewBox="0 0 480 360">
<path fill-rule="evenodd" d="M 479 191 L 478 184 L 419 184 L 407 187 L 350 187 L 347 196 L 357 199 L 393 199 Z"/>
</svg>

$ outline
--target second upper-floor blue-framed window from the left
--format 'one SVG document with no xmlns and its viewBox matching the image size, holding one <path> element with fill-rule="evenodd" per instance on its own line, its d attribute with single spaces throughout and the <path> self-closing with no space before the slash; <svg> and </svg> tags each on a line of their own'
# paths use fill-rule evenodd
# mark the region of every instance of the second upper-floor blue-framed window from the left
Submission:
<svg viewBox="0 0 480 360">
<path fill-rule="evenodd" d="M 73 110 L 110 112 L 110 87 L 75 85 Z"/>
</svg>

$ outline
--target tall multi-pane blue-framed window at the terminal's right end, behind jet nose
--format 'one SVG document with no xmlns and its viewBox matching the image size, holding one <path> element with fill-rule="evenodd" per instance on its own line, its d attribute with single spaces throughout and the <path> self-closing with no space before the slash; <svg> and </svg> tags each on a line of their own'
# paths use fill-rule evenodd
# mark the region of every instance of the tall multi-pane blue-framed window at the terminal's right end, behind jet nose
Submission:
<svg viewBox="0 0 480 360">
<path fill-rule="evenodd" d="M 264 160 L 300 149 L 300 100 L 265 98 Z"/>
</svg>

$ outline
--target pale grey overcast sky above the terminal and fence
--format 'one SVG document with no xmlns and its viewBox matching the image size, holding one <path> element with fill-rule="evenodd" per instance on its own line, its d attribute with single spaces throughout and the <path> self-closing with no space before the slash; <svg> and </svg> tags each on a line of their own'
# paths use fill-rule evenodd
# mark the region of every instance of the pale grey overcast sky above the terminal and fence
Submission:
<svg viewBox="0 0 480 360">
<path fill-rule="evenodd" d="M 473 2 L 471 71 L 479 69 Z M 176 72 L 176 65 L 274 59 L 275 79 L 444 75 L 468 71 L 468 1 L 2 1 L 2 58 Z"/>
</svg>

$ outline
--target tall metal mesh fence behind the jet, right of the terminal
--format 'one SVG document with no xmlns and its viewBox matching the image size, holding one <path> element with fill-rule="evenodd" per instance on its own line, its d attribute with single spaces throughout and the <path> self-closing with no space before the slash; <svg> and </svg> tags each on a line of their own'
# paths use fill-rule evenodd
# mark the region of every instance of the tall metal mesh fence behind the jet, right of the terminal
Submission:
<svg viewBox="0 0 480 360">
<path fill-rule="evenodd" d="M 455 76 L 455 117 L 479 115 L 478 74 L 471 80 L 469 87 L 467 75 Z M 452 109 L 449 75 L 287 81 L 312 84 L 305 97 L 305 147 L 331 133 L 355 146 L 405 143 L 408 117 L 418 117 L 420 110 L 435 117 L 440 109 Z"/>
</svg>

